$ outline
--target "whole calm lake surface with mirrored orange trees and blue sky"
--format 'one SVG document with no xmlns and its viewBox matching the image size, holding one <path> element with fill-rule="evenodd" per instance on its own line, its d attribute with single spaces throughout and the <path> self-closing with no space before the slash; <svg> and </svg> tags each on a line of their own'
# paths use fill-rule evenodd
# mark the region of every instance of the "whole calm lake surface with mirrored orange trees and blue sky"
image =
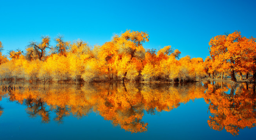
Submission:
<svg viewBox="0 0 256 140">
<path fill-rule="evenodd" d="M 255 84 L 5 86 L 1 140 L 255 138 Z"/>
</svg>

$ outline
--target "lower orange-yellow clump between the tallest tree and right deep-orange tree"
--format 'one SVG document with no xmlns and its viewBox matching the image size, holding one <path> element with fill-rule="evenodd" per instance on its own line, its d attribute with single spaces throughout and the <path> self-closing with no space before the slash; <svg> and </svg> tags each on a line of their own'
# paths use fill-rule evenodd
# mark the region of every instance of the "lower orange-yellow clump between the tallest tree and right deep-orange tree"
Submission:
<svg viewBox="0 0 256 140">
<path fill-rule="evenodd" d="M 202 58 L 179 58 L 180 51 L 173 51 L 171 46 L 165 46 L 157 54 L 155 50 L 148 50 L 145 55 L 145 66 L 141 72 L 145 81 L 167 80 L 185 82 L 201 79 L 206 73 Z"/>
</svg>

